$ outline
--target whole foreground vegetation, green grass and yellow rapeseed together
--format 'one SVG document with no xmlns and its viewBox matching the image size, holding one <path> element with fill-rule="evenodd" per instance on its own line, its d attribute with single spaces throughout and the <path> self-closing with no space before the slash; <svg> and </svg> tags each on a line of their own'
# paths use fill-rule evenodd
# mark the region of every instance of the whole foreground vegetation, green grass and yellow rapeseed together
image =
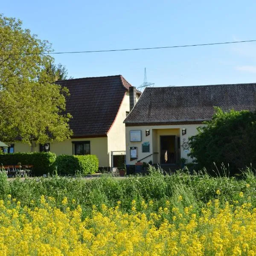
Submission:
<svg viewBox="0 0 256 256">
<path fill-rule="evenodd" d="M 145 177 L 91 180 L 0 174 L 0 255 L 255 256 L 256 176 L 222 171 L 151 168 Z"/>
</svg>

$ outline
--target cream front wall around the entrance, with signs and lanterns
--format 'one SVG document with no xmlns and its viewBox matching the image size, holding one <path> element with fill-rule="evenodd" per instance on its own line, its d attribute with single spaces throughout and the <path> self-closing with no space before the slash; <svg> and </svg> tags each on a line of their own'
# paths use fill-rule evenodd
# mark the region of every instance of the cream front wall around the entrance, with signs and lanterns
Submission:
<svg viewBox="0 0 256 256">
<path fill-rule="evenodd" d="M 144 160 L 147 162 L 152 160 L 153 163 L 160 163 L 160 136 L 162 135 L 176 135 L 180 137 L 180 157 L 188 159 L 191 162 L 192 159 L 187 156 L 190 152 L 189 149 L 183 149 L 182 145 L 188 142 L 188 138 L 197 134 L 196 128 L 201 125 L 151 125 L 151 126 L 127 126 L 125 128 L 125 140 L 126 140 L 126 164 L 135 164 L 138 160 L 153 154 Z M 182 135 L 182 129 L 186 129 L 186 134 Z M 130 131 L 141 130 L 141 142 L 130 142 Z M 150 135 L 145 135 L 145 130 L 150 131 Z M 142 143 L 149 141 L 150 152 L 142 153 Z M 130 160 L 130 147 L 138 148 L 138 159 Z"/>
</svg>

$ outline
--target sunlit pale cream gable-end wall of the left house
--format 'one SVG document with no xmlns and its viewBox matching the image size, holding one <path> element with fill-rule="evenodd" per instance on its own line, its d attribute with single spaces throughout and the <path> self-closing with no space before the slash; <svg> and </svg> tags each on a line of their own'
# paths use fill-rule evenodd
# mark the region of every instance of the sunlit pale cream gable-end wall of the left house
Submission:
<svg viewBox="0 0 256 256">
<path fill-rule="evenodd" d="M 129 92 L 125 93 L 125 97 L 117 113 L 116 119 L 108 131 L 108 155 L 111 163 L 111 151 L 125 151 L 125 124 L 123 121 L 126 112 L 130 109 Z"/>
</svg>

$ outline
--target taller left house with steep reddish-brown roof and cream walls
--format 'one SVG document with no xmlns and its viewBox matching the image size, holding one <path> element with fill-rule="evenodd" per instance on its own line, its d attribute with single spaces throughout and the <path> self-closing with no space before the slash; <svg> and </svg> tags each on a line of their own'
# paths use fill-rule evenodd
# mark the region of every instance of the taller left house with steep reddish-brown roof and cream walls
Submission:
<svg viewBox="0 0 256 256">
<path fill-rule="evenodd" d="M 121 75 L 69 79 L 57 81 L 57 84 L 67 87 L 70 92 L 66 108 L 73 116 L 70 119 L 73 136 L 63 142 L 53 141 L 45 145 L 11 143 L 12 151 L 47 149 L 57 155 L 96 154 L 101 168 L 111 166 L 111 152 L 125 157 L 123 121 L 130 111 L 130 99 L 133 99 L 134 105 L 141 93 Z"/>
</svg>

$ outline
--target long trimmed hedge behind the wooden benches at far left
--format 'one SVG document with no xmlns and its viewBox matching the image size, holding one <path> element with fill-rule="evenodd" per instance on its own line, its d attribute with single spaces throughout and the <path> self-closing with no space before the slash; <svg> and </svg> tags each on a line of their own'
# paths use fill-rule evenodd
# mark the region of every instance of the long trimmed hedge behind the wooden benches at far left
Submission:
<svg viewBox="0 0 256 256">
<path fill-rule="evenodd" d="M 43 174 L 52 174 L 56 155 L 52 152 L 29 152 L 1 154 L 0 164 L 3 165 L 21 165 L 32 164 L 32 175 L 41 176 Z"/>
</svg>

